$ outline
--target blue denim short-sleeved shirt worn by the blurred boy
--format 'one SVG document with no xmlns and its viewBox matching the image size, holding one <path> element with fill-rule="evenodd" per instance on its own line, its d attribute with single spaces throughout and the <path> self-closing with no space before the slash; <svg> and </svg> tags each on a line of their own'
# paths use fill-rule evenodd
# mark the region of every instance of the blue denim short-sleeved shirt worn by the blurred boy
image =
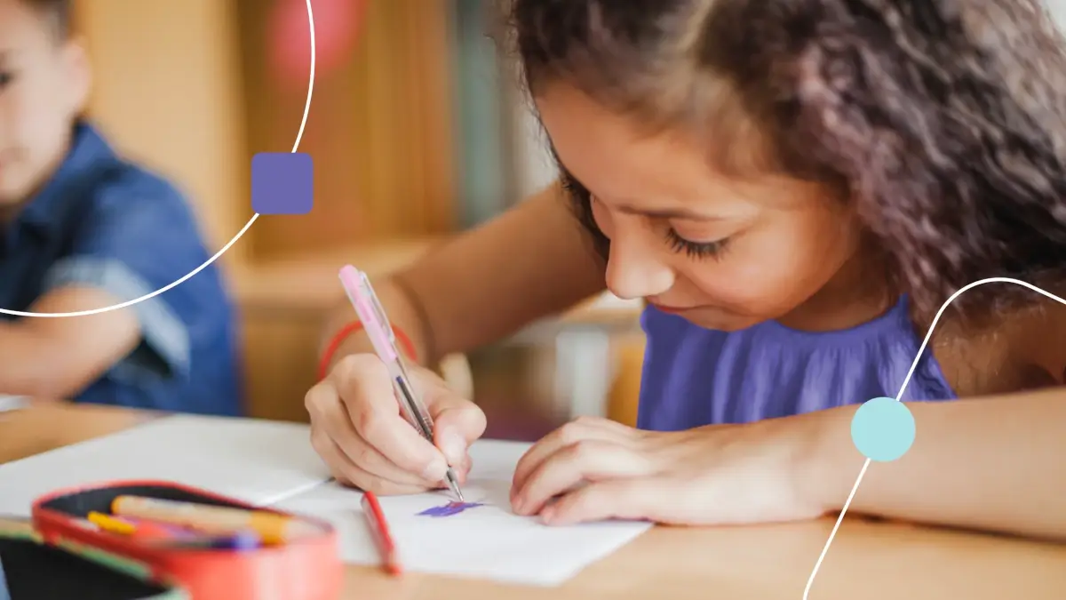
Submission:
<svg viewBox="0 0 1066 600">
<path fill-rule="evenodd" d="M 0 306 L 30 311 L 50 290 L 69 286 L 132 300 L 209 257 L 182 194 L 79 123 L 51 180 L 0 233 Z M 243 412 L 233 311 L 213 265 L 127 310 L 140 320 L 141 344 L 75 401 Z"/>
</svg>

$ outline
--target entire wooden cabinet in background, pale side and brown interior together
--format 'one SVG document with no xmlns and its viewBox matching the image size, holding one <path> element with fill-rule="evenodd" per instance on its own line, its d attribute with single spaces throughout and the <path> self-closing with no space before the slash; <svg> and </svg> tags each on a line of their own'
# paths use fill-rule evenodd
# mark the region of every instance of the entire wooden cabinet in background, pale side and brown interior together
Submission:
<svg viewBox="0 0 1066 600">
<path fill-rule="evenodd" d="M 450 4 L 350 0 L 366 12 L 350 13 L 357 36 L 340 59 L 327 57 L 338 31 L 329 4 L 339 5 L 312 4 L 322 60 L 298 148 L 314 159 L 314 208 L 260 217 L 223 258 L 256 416 L 304 419 L 322 320 L 343 298 L 340 265 L 391 270 L 455 226 Z M 272 29 L 276 11 L 290 9 L 76 2 L 95 72 L 88 115 L 122 153 L 188 193 L 214 249 L 253 216 L 252 156 L 292 151 L 301 129 L 307 80 L 279 77 Z M 307 26 L 303 10 L 280 17 Z"/>
</svg>

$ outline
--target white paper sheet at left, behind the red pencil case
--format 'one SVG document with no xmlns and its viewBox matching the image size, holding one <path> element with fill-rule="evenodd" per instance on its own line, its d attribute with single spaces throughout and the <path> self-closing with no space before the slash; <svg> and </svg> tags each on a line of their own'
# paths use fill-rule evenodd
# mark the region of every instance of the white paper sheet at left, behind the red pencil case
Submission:
<svg viewBox="0 0 1066 600">
<path fill-rule="evenodd" d="M 268 505 L 329 478 L 309 436 L 293 423 L 168 416 L 0 465 L 0 514 L 29 516 L 43 494 L 115 479 L 175 481 Z"/>
</svg>

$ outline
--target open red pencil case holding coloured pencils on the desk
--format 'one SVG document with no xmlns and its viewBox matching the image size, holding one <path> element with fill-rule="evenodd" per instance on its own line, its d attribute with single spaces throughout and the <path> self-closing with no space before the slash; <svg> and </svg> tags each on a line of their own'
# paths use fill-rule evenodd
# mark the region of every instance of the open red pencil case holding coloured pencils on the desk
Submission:
<svg viewBox="0 0 1066 600">
<path fill-rule="evenodd" d="M 149 543 L 83 524 L 92 511 L 111 515 L 111 504 L 119 495 L 265 510 L 298 518 L 322 533 L 276 546 L 223 550 Z M 328 522 L 169 481 L 113 481 L 60 490 L 34 502 L 32 516 L 46 543 L 80 553 L 98 549 L 133 560 L 147 569 L 150 580 L 177 583 L 195 600 L 335 600 L 343 583 L 337 533 Z"/>
</svg>

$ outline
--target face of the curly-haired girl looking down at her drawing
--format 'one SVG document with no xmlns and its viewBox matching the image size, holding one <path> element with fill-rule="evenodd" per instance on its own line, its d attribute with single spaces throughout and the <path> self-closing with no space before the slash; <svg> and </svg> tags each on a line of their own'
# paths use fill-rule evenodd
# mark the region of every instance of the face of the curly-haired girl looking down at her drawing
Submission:
<svg viewBox="0 0 1066 600">
<path fill-rule="evenodd" d="M 643 135 L 563 84 L 536 104 L 560 160 L 593 194 L 615 295 L 709 329 L 817 329 L 860 279 L 858 220 L 824 187 L 727 179 L 695 139 Z"/>
</svg>

